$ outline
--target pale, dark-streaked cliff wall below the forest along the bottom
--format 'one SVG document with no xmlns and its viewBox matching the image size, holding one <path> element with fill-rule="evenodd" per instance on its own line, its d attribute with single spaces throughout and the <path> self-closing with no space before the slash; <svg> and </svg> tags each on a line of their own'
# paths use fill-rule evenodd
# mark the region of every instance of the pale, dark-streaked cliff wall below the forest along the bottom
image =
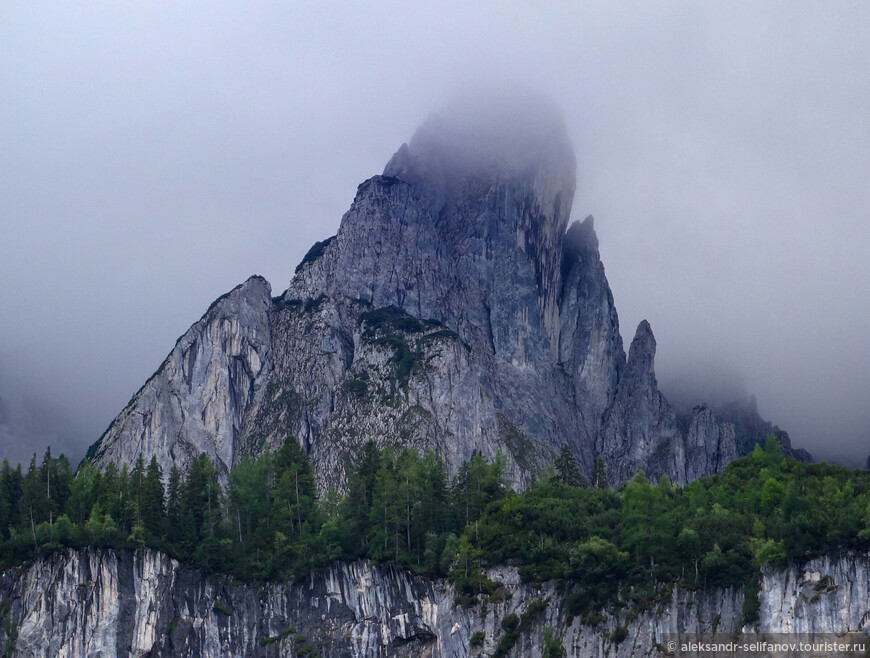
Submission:
<svg viewBox="0 0 870 658">
<path fill-rule="evenodd" d="M 501 621 L 547 602 L 511 656 L 540 656 L 544 629 L 568 656 L 662 655 L 663 633 L 741 630 L 742 592 L 675 590 L 667 603 L 623 611 L 598 626 L 569 620 L 551 585 L 535 589 L 510 569 L 490 574 L 505 601 L 463 610 L 452 588 L 366 562 L 336 565 L 296 584 L 248 588 L 180 567 L 153 551 L 68 551 L 0 577 L 0 644 L 14 655 L 54 656 L 452 656 L 491 654 Z M 812 560 L 768 571 L 759 593 L 762 632 L 868 630 L 870 557 Z M 628 615 L 628 616 L 626 616 Z M 604 639 L 618 625 L 619 644 Z M 605 633 L 604 631 L 609 631 Z M 471 637 L 483 642 L 470 647 Z"/>
</svg>

